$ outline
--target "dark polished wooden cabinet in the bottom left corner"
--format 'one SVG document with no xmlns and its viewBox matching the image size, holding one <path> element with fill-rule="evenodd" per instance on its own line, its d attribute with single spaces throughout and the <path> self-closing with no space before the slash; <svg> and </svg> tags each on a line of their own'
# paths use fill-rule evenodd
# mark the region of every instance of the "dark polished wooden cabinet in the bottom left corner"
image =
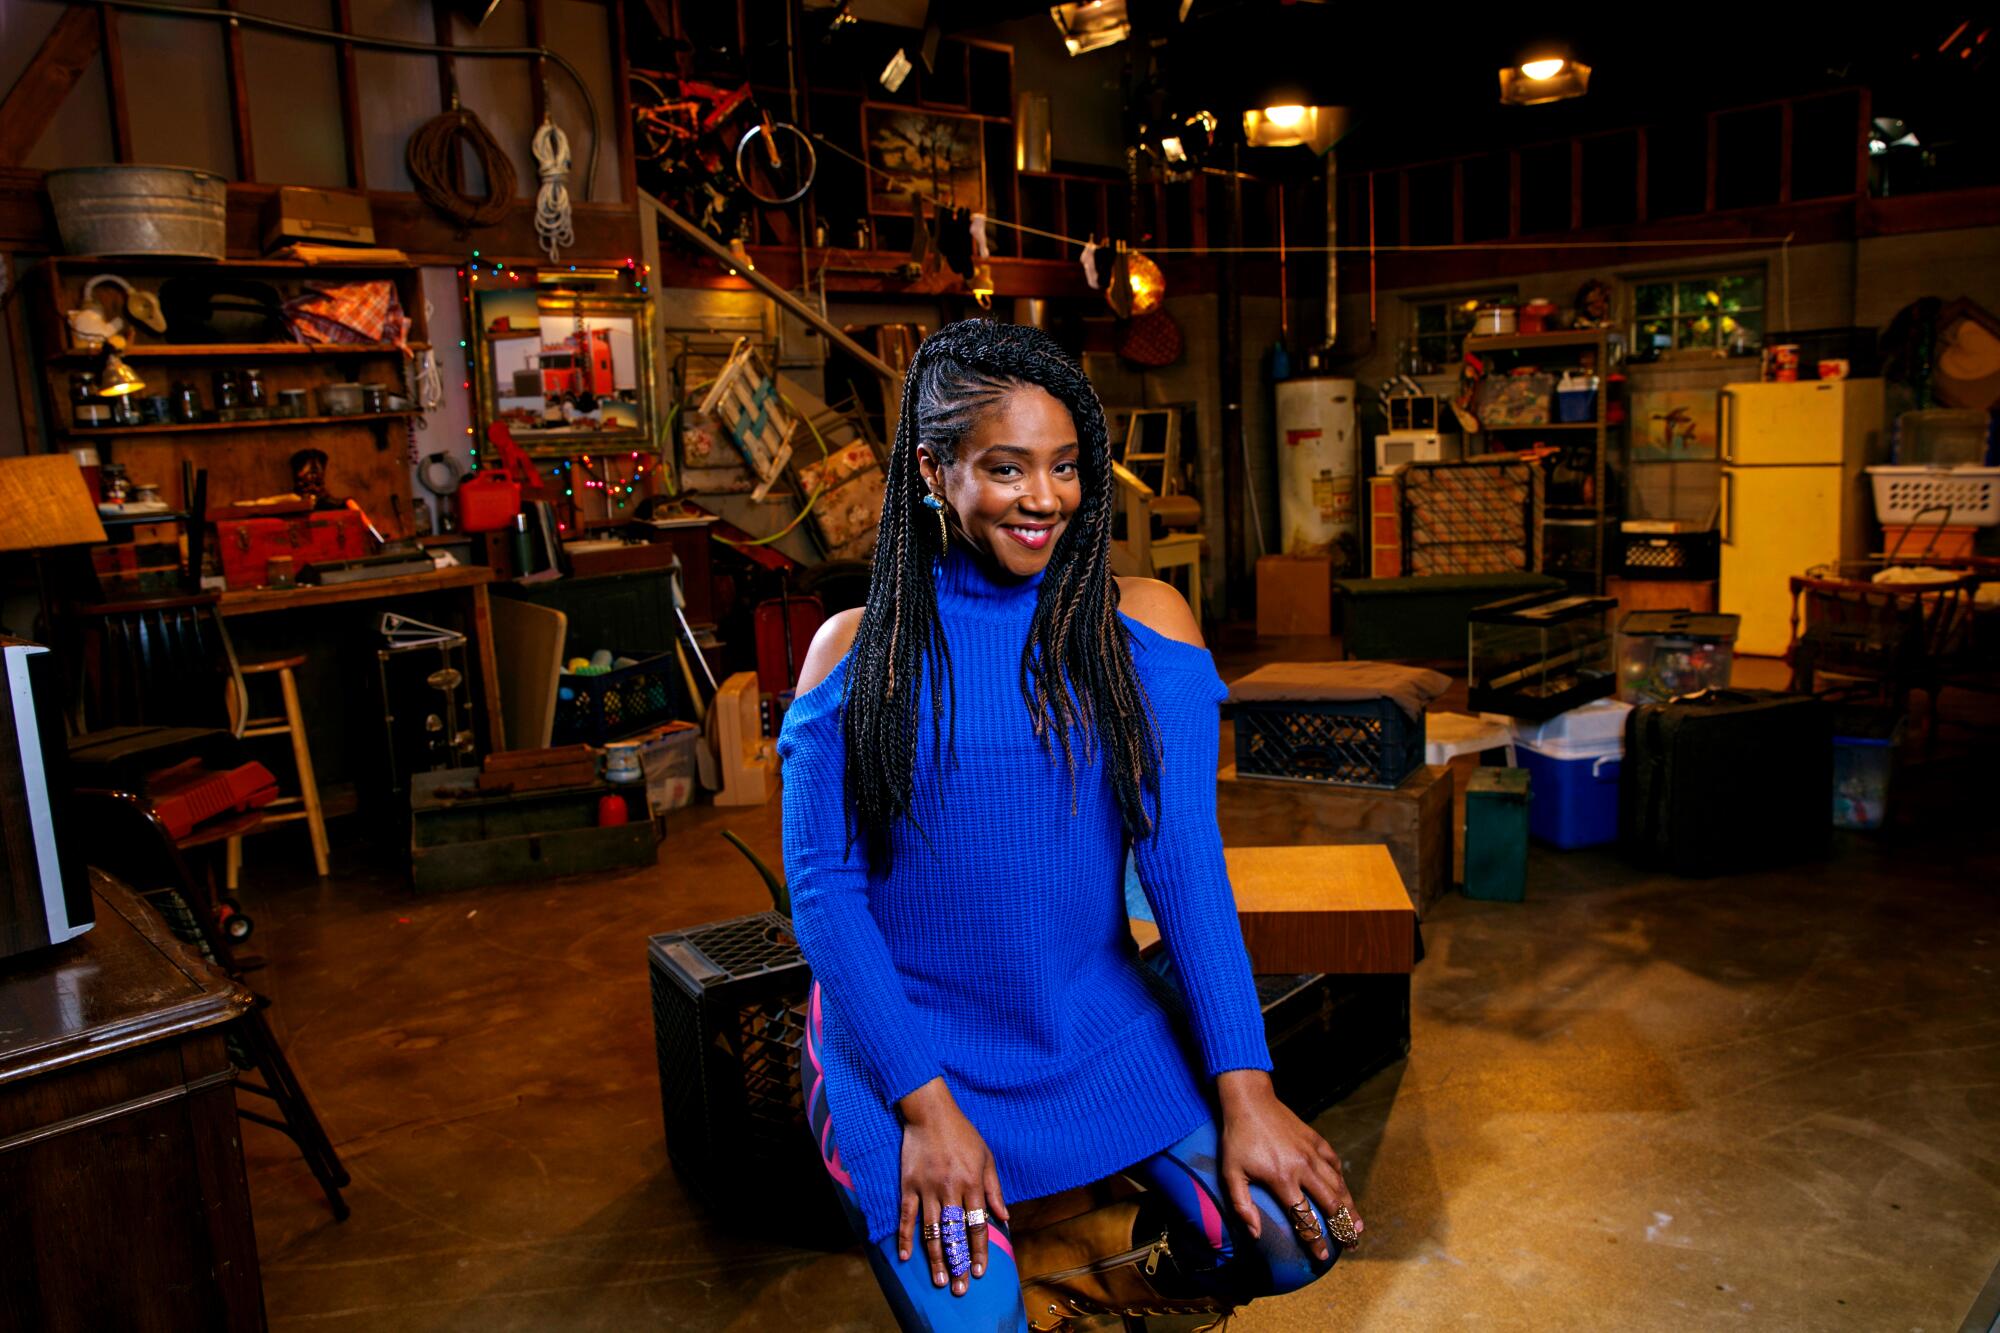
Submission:
<svg viewBox="0 0 2000 1333">
<path fill-rule="evenodd" d="M 250 991 L 90 881 L 94 929 L 0 967 L 0 1333 L 264 1329 L 222 1041 Z"/>
</svg>

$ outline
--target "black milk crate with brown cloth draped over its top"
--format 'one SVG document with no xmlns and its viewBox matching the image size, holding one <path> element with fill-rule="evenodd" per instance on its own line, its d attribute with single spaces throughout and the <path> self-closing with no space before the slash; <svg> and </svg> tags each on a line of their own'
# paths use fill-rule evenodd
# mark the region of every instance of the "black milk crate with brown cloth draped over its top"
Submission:
<svg viewBox="0 0 2000 1333">
<path fill-rule="evenodd" d="M 1424 763 L 1424 719 L 1394 699 L 1230 705 L 1236 773 L 1338 787 L 1402 787 Z"/>
</svg>

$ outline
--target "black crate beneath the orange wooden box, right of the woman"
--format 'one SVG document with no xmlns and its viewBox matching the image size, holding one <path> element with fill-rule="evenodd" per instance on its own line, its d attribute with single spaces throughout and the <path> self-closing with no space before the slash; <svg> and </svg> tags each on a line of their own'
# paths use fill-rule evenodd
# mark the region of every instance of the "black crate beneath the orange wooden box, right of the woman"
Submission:
<svg viewBox="0 0 2000 1333">
<path fill-rule="evenodd" d="M 1144 959 L 1186 1015 L 1164 949 Z M 1256 977 L 1278 1101 L 1304 1121 L 1410 1055 L 1410 973 L 1272 973 Z"/>
</svg>

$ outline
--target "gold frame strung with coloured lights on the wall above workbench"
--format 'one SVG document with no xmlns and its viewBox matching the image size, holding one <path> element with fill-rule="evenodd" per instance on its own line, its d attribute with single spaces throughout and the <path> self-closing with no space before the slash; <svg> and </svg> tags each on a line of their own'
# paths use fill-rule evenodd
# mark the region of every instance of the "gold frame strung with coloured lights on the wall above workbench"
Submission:
<svg viewBox="0 0 2000 1333">
<path fill-rule="evenodd" d="M 648 298 L 496 288 L 472 310 L 482 440 L 504 420 L 538 458 L 660 450 Z"/>
</svg>

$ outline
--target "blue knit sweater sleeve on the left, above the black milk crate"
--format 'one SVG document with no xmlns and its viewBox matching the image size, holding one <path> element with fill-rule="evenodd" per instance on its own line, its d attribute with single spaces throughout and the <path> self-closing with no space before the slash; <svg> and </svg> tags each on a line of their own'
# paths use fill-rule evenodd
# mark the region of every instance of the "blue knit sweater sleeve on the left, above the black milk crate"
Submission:
<svg viewBox="0 0 2000 1333">
<path fill-rule="evenodd" d="M 940 1073 L 930 1037 L 882 927 L 868 911 L 868 871 L 860 841 L 848 847 L 846 745 L 840 679 L 806 691 L 778 737 L 784 761 L 784 877 L 792 933 L 826 1003 L 840 1011 L 882 1095 L 900 1101 Z"/>
</svg>

